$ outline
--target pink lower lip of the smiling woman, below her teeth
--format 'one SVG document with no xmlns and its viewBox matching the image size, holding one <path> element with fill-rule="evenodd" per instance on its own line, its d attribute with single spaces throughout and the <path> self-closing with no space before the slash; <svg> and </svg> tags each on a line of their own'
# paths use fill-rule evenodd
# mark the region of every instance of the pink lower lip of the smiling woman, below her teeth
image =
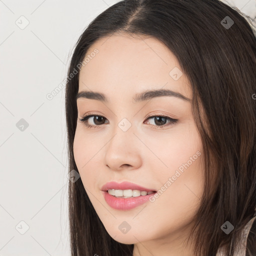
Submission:
<svg viewBox="0 0 256 256">
<path fill-rule="evenodd" d="M 153 196 L 156 193 L 154 192 L 151 194 L 140 195 L 140 196 L 135 196 L 130 198 L 117 198 L 109 194 L 107 191 L 102 191 L 102 192 L 107 204 L 117 210 L 128 210 L 128 209 L 135 208 L 136 206 L 147 202 L 150 196 Z"/>
</svg>

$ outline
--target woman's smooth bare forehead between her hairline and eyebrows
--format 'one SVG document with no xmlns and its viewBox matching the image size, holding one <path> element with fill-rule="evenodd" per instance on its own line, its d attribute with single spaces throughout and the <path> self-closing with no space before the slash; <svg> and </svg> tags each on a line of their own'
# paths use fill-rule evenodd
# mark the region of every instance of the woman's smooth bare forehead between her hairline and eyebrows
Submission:
<svg viewBox="0 0 256 256">
<path fill-rule="evenodd" d="M 91 54 L 97 50 L 96 54 Z M 167 46 L 154 37 L 112 34 L 94 42 L 86 52 L 86 64 L 79 73 L 79 91 L 130 94 L 146 89 L 172 89 L 190 97 L 184 74 L 170 75 L 181 67 Z M 176 69 L 175 69 L 176 70 Z"/>
</svg>

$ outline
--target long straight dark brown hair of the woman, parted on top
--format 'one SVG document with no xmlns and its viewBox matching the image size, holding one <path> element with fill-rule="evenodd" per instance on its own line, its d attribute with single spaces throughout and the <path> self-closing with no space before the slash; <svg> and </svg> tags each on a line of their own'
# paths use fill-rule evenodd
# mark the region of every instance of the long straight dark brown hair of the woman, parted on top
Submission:
<svg viewBox="0 0 256 256">
<path fill-rule="evenodd" d="M 123 0 L 99 14 L 80 35 L 67 74 L 69 171 L 79 171 L 73 156 L 79 63 L 96 40 L 118 32 L 162 41 L 188 77 L 205 169 L 204 191 L 189 238 L 194 240 L 194 255 L 214 256 L 223 245 L 225 255 L 231 249 L 230 255 L 235 256 L 231 240 L 233 245 L 238 241 L 256 205 L 256 38 L 252 27 L 237 9 L 218 0 Z M 110 237 L 80 178 L 69 181 L 68 192 L 71 255 L 131 256 L 133 244 Z M 234 226 L 229 234 L 220 228 L 227 220 Z"/>
</svg>

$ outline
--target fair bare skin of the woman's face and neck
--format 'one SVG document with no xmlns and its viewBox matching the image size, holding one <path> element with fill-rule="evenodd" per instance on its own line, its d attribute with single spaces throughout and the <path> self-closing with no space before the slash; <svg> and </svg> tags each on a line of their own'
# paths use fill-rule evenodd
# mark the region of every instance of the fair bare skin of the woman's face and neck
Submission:
<svg viewBox="0 0 256 256">
<path fill-rule="evenodd" d="M 79 91 L 102 92 L 110 99 L 78 98 L 78 119 L 73 152 L 80 178 L 89 199 L 109 235 L 118 242 L 134 244 L 133 256 L 190 256 L 186 244 L 193 216 L 203 192 L 202 144 L 192 117 L 191 102 L 174 96 L 155 97 L 132 102 L 135 93 L 146 89 L 171 89 L 191 99 L 185 74 L 174 80 L 169 72 L 181 67 L 172 52 L 153 37 L 135 38 L 113 34 L 91 45 L 86 53 L 98 53 L 79 74 Z M 114 93 L 113 93 L 114 92 Z M 79 121 L 92 112 L 106 119 L 88 119 L 96 128 Z M 177 118 L 157 123 L 149 113 Z M 126 118 L 127 131 L 118 127 Z M 163 124 L 160 129 L 159 125 Z M 111 208 L 102 195 L 101 186 L 108 181 L 130 181 L 158 190 L 169 177 L 196 152 L 201 155 L 155 199 L 129 210 Z M 108 167 L 109 166 L 109 167 Z M 122 233 L 118 226 L 126 221 L 130 230 Z"/>
</svg>

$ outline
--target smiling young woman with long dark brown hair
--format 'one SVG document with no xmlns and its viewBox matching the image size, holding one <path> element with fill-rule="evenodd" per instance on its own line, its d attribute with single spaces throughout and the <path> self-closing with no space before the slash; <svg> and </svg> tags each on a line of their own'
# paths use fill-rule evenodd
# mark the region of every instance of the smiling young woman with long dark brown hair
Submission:
<svg viewBox="0 0 256 256">
<path fill-rule="evenodd" d="M 89 24 L 66 84 L 72 256 L 256 255 L 255 70 L 250 24 L 218 0 Z"/>
</svg>

